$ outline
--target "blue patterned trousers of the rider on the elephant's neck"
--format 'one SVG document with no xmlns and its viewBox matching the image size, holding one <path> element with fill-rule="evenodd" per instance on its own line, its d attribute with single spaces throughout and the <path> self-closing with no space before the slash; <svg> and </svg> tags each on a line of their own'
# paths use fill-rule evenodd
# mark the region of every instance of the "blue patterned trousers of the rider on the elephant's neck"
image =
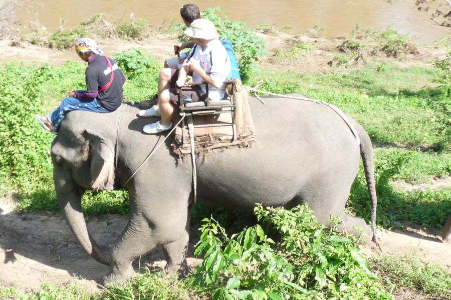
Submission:
<svg viewBox="0 0 451 300">
<path fill-rule="evenodd" d="M 110 112 L 108 109 L 100 105 L 96 98 L 91 101 L 82 101 L 74 97 L 67 97 L 61 101 L 60 107 L 55 109 L 47 117 L 50 119 L 52 124 L 55 126 L 54 131 L 60 131 L 60 124 L 66 113 L 72 110 L 87 110 L 94 112 Z"/>
</svg>

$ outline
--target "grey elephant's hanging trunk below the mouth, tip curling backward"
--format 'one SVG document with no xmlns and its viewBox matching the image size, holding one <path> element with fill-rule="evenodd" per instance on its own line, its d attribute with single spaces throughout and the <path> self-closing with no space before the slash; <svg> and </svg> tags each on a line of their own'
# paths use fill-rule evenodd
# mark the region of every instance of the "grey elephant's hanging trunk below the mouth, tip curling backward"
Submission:
<svg viewBox="0 0 451 300">
<path fill-rule="evenodd" d="M 66 193 L 64 197 L 58 195 L 58 198 L 61 210 L 69 223 L 69 227 L 81 246 L 98 262 L 110 265 L 110 260 L 88 232 L 81 207 L 81 194 L 73 191 Z"/>
</svg>

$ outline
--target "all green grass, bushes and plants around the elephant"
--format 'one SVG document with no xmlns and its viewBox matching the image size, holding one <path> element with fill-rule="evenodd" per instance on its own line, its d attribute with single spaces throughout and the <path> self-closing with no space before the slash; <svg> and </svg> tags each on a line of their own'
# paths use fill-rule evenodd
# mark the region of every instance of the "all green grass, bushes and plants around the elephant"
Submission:
<svg viewBox="0 0 451 300">
<path fill-rule="evenodd" d="M 393 30 L 357 27 L 352 38 L 340 45 L 345 52 L 337 55 L 334 65 L 355 62 L 362 55 L 383 54 L 390 58 L 358 69 L 336 68 L 334 73 L 255 70 L 252 66 L 266 46 L 253 29 L 222 19 L 218 8 L 203 15 L 218 26 L 221 38 L 233 41 L 246 72 L 245 85 L 254 86 L 263 80 L 259 89 L 298 92 L 330 102 L 368 131 L 376 147 L 379 227 L 413 224 L 436 229 L 443 225 L 451 211 L 451 188 L 404 190 L 396 182 L 429 183 L 431 178 L 445 178 L 451 173 L 449 52 L 445 59 L 434 60 L 435 67 L 399 66 L 394 61 L 396 57 L 416 50 L 406 36 Z M 132 30 L 139 27 L 139 21 L 122 21 L 113 30 L 102 14 L 96 14 L 82 22 L 81 28 L 89 30 L 89 26 L 100 22 L 113 30 L 108 29 L 110 33 L 118 33 L 119 26 L 127 38 L 144 36 L 134 35 L 144 34 L 144 29 Z M 262 25 L 261 30 L 268 28 L 269 25 Z M 74 30 L 57 31 L 44 44 L 50 45 L 50 40 L 54 40 L 53 47 L 64 48 L 65 40 L 72 38 L 69 44 L 73 43 L 80 33 L 76 30 L 81 29 Z M 322 28 L 318 26 L 316 30 Z M 42 44 L 39 33 L 34 35 L 36 44 Z M 449 41 L 442 42 L 449 45 Z M 289 43 L 292 49 L 280 52 L 280 59 L 291 59 L 299 53 L 307 55 L 314 49 L 296 36 Z M 130 48 L 113 56 L 127 77 L 124 93 L 128 100 L 140 101 L 156 92 L 160 61 L 143 48 Z M 14 193 L 20 201 L 19 210 L 59 210 L 49 153 L 54 136 L 42 130 L 34 114 L 51 112 L 67 90 L 84 88 L 84 68 L 81 61 L 67 61 L 58 67 L 17 62 L 0 67 L 0 192 Z M 88 192 L 82 205 L 87 216 L 129 213 L 125 191 L 97 195 Z M 369 197 L 362 167 L 347 209 L 369 222 Z M 210 213 L 214 219 L 204 219 Z M 368 264 L 354 237 L 318 224 L 308 207 L 292 211 L 258 207 L 256 214 L 258 224 L 242 230 L 243 220 L 249 215 L 240 214 L 237 220 L 235 213 L 195 207 L 192 221 L 198 224 L 204 219 L 195 254 L 204 260 L 183 281 L 156 276 L 149 270 L 125 285 L 108 286 L 96 295 L 74 285 L 59 289 L 45 284 L 35 294 L 0 288 L 0 298 L 389 299 L 392 292 L 409 289 L 425 297 L 451 299 L 451 274 L 445 269 L 410 256 L 372 258 Z"/>
</svg>

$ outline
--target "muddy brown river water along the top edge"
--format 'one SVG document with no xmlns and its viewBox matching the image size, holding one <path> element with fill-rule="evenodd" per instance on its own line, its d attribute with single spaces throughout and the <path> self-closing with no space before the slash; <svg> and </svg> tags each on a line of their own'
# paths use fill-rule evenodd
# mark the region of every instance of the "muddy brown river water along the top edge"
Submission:
<svg viewBox="0 0 451 300">
<path fill-rule="evenodd" d="M 107 19 L 128 18 L 131 14 L 150 24 L 179 22 L 179 8 L 187 3 L 179 0 L 30 0 L 18 18 L 24 28 L 45 26 L 53 31 L 64 19 L 65 28 L 73 28 L 81 20 L 97 12 Z M 442 11 L 451 7 L 445 0 L 436 0 Z M 430 12 L 418 11 L 415 0 L 203 0 L 196 3 L 201 10 L 220 7 L 232 21 L 251 26 L 260 23 L 276 24 L 277 28 L 291 26 L 292 33 L 302 33 L 315 24 L 326 27 L 322 35 L 333 37 L 349 34 L 357 23 L 363 28 L 391 28 L 410 33 L 416 42 L 430 42 L 441 36 L 451 36 L 449 27 L 438 26 L 430 19 Z"/>
</svg>

